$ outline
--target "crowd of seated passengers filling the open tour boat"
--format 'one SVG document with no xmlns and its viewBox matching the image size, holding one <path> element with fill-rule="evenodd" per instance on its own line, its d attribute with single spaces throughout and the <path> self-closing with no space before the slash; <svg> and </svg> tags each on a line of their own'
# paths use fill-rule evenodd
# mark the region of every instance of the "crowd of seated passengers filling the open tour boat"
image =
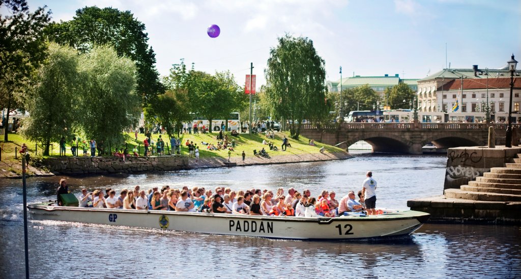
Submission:
<svg viewBox="0 0 521 279">
<path fill-rule="evenodd" d="M 61 181 L 60 181 L 61 182 Z M 60 183 L 61 184 L 61 183 Z M 58 191 L 59 192 L 59 191 Z M 297 217 L 336 217 L 346 212 L 361 212 L 365 204 L 358 192 L 358 201 L 353 191 L 336 200 L 336 193 L 323 190 L 319 196 L 312 197 L 305 189 L 302 193 L 290 188 L 287 194 L 279 188 L 276 193 L 264 189 L 247 191 L 232 191 L 230 188 L 216 187 L 215 193 L 205 188 L 170 189 L 164 186 L 147 191 L 139 185 L 133 190 L 123 189 L 116 196 L 116 191 L 110 188 L 95 190 L 88 193 L 82 189 L 79 196 L 80 207 L 122 208 L 137 210 L 172 210 L 188 212 L 214 212 L 219 214 L 245 214 Z M 59 194 L 58 194 L 59 199 Z M 59 201 L 58 201 L 59 204 Z"/>
</svg>

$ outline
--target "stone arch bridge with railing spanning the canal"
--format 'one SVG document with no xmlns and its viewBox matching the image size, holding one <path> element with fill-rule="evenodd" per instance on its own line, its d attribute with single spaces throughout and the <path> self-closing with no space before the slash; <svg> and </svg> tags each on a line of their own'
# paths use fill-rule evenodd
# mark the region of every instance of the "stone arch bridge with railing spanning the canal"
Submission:
<svg viewBox="0 0 521 279">
<path fill-rule="evenodd" d="M 301 135 L 346 150 L 363 140 L 373 152 L 422 154 L 421 148 L 431 142 L 437 148 L 487 145 L 489 126 L 495 129 L 496 144 L 504 144 L 507 125 L 487 123 L 308 123 L 302 125 Z M 521 125 L 512 126 L 518 130 Z"/>
</svg>

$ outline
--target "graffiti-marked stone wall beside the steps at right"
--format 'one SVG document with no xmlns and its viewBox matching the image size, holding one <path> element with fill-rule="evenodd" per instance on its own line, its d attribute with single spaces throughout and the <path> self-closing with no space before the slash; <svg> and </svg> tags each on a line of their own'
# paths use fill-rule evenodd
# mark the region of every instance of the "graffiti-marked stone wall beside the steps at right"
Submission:
<svg viewBox="0 0 521 279">
<path fill-rule="evenodd" d="M 486 148 L 486 147 L 458 147 L 450 148 L 447 152 L 445 169 L 445 189 L 459 189 L 476 177 L 490 171 L 493 167 L 504 167 L 505 163 L 514 162 L 516 154 L 521 148 Z"/>
</svg>

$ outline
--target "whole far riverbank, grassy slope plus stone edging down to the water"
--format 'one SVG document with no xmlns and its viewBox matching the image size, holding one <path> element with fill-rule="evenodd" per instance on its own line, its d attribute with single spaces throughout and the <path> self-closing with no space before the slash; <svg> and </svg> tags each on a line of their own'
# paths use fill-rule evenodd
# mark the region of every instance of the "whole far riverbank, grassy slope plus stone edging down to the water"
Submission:
<svg viewBox="0 0 521 279">
<path fill-rule="evenodd" d="M 15 157 L 16 148 L 19 148 L 22 143 L 27 143 L 29 146 L 29 152 L 31 154 L 31 164 L 27 169 L 28 176 L 54 176 L 54 175 L 85 175 L 85 174 L 109 174 L 109 173 L 137 173 L 146 171 L 171 171 L 177 169 L 192 169 L 192 168 L 213 168 L 213 167 L 229 167 L 229 166 L 246 166 L 246 165 L 265 165 L 265 164 L 286 164 L 286 163 L 300 163 L 300 162 L 317 162 L 317 161 L 330 161 L 330 160 L 342 160 L 351 158 L 352 156 L 344 150 L 333 147 L 331 145 L 322 144 L 315 142 L 315 145 L 310 145 L 311 139 L 300 137 L 299 140 L 291 139 L 288 132 L 275 132 L 274 138 L 267 138 L 263 134 L 240 134 L 238 137 L 231 137 L 234 141 L 235 148 L 228 154 L 228 150 L 209 150 L 207 144 L 217 144 L 217 133 L 212 134 L 184 134 L 181 135 L 181 152 L 175 156 L 158 156 L 156 153 L 150 157 L 134 158 L 128 157 L 126 162 L 113 157 L 103 156 L 94 157 L 94 160 L 88 156 L 88 152 L 85 154 L 86 157 L 81 156 L 83 152 L 80 151 L 80 156 L 73 157 L 72 154 L 67 153 L 66 157 L 58 157 L 56 154 L 53 156 L 41 156 L 42 148 L 40 145 L 36 145 L 34 142 L 27 141 L 23 137 L 17 134 L 9 135 L 11 141 L 2 142 L 2 148 L 4 153 L 2 154 L 2 161 L 0 162 L 0 178 L 21 178 L 22 167 L 20 155 L 18 158 Z M 127 138 L 132 134 L 126 135 Z M 167 135 L 152 135 L 152 139 L 157 142 L 157 139 L 163 136 L 165 138 L 165 154 L 171 152 L 168 143 L 170 140 Z M 282 151 L 281 142 L 283 137 L 287 137 L 291 143 L 291 147 L 288 147 L 286 151 Z M 138 134 L 138 139 L 129 139 L 123 147 L 127 146 L 128 150 L 131 151 L 135 146 L 143 149 L 142 140 L 145 136 Z M 200 162 L 195 163 L 195 158 L 188 156 L 188 148 L 185 143 L 193 142 L 200 146 Z M 267 144 L 263 144 L 263 141 L 274 143 L 279 150 L 269 150 Z M 231 145 L 231 144 L 230 144 Z M 32 148 L 34 147 L 34 149 Z M 320 153 L 320 148 L 324 147 L 324 154 Z M 37 149 L 38 148 L 38 149 Z M 108 148 L 108 147 L 107 147 Z M 262 148 L 268 151 L 269 158 L 256 157 L 253 155 L 254 150 L 257 152 Z M 114 149 L 114 148 L 111 148 Z M 69 152 L 67 148 L 67 152 Z M 245 160 L 242 161 L 242 152 L 245 152 Z M 53 153 L 54 154 L 54 153 Z M 143 151 L 140 152 L 143 155 Z M 228 155 L 230 155 L 231 164 L 228 164 Z M 168 159 L 177 158 L 176 162 L 171 162 Z M 178 160 L 180 159 L 180 160 Z M 181 162 L 181 163 L 180 163 Z"/>
</svg>

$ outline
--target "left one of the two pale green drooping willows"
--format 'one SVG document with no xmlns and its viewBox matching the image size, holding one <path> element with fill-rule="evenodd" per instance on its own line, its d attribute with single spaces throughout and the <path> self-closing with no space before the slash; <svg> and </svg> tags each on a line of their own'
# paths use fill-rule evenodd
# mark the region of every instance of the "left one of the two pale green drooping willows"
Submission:
<svg viewBox="0 0 521 279">
<path fill-rule="evenodd" d="M 78 127 L 77 107 L 81 77 L 78 52 L 51 43 L 49 56 L 38 70 L 33 86 L 24 95 L 29 117 L 23 119 L 21 132 L 30 140 L 49 144 L 70 136 Z"/>
</svg>

